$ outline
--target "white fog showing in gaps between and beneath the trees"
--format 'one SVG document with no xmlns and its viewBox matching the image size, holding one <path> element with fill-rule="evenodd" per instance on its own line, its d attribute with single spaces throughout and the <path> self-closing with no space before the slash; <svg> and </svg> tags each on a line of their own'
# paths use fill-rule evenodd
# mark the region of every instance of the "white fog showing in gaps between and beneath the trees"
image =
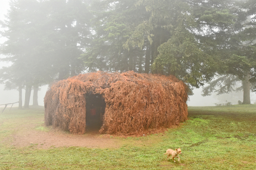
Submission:
<svg viewBox="0 0 256 170">
<path fill-rule="evenodd" d="M 0 20 L 5 19 L 5 14 L 9 8 L 9 2 L 6 0 L 0 0 Z M 2 29 L 2 28 L 0 28 Z M 0 44 L 5 41 L 3 37 L 0 37 Z M 1 54 L 0 54 L 1 55 Z M 3 57 L 3 56 L 1 56 Z M 0 69 L 3 66 L 9 66 L 10 63 L 0 62 Z M 7 103 L 14 103 L 19 101 L 19 93 L 17 90 L 4 90 L 4 85 L 0 84 L 0 104 L 7 104 Z M 40 87 L 40 91 L 38 91 L 38 104 L 44 105 L 44 96 L 46 94 L 48 86 Z M 23 90 L 23 94 L 24 94 Z M 33 94 L 33 92 L 31 92 Z M 242 92 L 231 92 L 230 94 L 223 94 L 223 95 L 216 95 L 212 94 L 212 96 L 201 96 L 202 88 L 194 89 L 193 95 L 189 96 L 188 99 L 188 106 L 214 106 L 215 103 L 222 104 L 226 101 L 231 102 L 232 104 L 238 104 L 238 100 L 243 100 L 243 93 Z M 24 105 L 24 95 L 23 97 L 23 105 Z M 256 95 L 255 92 L 250 93 L 251 103 L 256 102 Z M 30 100 L 30 105 L 32 104 L 32 95 Z M 9 105 L 8 107 L 10 107 Z M 4 107 L 4 105 L 0 106 Z M 13 107 L 18 107 L 18 103 L 14 104 Z"/>
</svg>

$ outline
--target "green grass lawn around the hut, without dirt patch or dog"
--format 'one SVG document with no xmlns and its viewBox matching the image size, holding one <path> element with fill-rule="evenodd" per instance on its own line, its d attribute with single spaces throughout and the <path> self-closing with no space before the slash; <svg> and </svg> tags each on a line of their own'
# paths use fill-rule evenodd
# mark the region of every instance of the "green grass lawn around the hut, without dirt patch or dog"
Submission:
<svg viewBox="0 0 256 170">
<path fill-rule="evenodd" d="M 177 129 L 145 137 L 118 138 L 122 147 L 60 147 L 38 150 L 0 144 L 0 169 L 255 169 L 256 105 L 189 107 L 189 120 Z M 36 121 L 30 122 L 30 117 Z M 43 108 L 0 113 L 0 140 L 24 124 L 48 131 Z M 180 163 L 166 160 L 180 147 Z"/>
</svg>

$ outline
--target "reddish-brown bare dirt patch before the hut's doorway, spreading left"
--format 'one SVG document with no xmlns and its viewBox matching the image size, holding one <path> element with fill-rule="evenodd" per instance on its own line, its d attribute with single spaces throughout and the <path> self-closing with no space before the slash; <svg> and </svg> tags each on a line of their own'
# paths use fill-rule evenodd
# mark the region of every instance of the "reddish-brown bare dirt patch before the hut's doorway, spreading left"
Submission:
<svg viewBox="0 0 256 170">
<path fill-rule="evenodd" d="M 38 121 L 33 117 L 28 117 L 26 123 L 16 122 L 16 127 L 13 127 L 14 133 L 8 135 L 0 143 L 14 147 L 33 146 L 42 149 L 71 146 L 89 148 L 118 148 L 122 146 L 122 139 L 102 135 L 95 130 L 86 134 L 75 135 L 63 130 L 46 127 L 44 124 L 38 124 Z M 37 129 L 38 126 L 44 128 L 45 131 Z"/>
</svg>

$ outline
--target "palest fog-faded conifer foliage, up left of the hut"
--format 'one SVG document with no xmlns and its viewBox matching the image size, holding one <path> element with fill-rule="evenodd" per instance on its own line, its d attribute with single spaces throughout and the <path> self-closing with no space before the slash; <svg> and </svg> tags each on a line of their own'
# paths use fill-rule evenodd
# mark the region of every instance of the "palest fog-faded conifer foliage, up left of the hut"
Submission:
<svg viewBox="0 0 256 170">
<path fill-rule="evenodd" d="M 89 43 L 86 7 L 84 1 L 10 1 L 7 19 L 1 22 L 1 36 L 7 38 L 1 61 L 11 66 L 0 70 L 0 79 L 7 89 L 26 87 L 27 107 L 32 86 L 35 90 L 84 70 L 79 57 Z"/>
</svg>

